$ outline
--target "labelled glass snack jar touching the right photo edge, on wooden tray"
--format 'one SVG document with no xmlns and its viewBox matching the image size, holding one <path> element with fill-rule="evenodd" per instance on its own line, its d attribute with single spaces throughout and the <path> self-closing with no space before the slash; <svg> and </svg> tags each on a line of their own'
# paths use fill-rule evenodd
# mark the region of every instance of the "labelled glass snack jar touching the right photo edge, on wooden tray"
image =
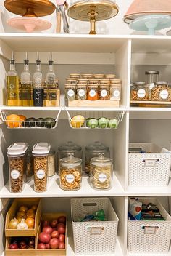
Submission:
<svg viewBox="0 0 171 256">
<path fill-rule="evenodd" d="M 170 101 L 171 88 L 164 81 L 155 83 L 151 89 L 151 100 Z"/>
</svg>

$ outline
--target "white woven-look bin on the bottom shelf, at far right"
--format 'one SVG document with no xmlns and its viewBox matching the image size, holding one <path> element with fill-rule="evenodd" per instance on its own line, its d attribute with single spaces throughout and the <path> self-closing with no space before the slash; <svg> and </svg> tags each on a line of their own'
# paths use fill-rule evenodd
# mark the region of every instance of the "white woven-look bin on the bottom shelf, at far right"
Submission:
<svg viewBox="0 0 171 256">
<path fill-rule="evenodd" d="M 144 254 L 168 252 L 171 239 L 170 215 L 157 199 L 139 198 L 139 201 L 156 204 L 165 221 L 128 220 L 128 251 Z"/>
</svg>

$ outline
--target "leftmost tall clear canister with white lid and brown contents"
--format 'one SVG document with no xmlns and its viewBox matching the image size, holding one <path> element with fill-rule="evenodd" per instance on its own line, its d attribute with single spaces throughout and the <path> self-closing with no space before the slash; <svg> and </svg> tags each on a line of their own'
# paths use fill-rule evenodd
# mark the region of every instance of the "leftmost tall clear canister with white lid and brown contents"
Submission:
<svg viewBox="0 0 171 256">
<path fill-rule="evenodd" d="M 11 193 L 22 192 L 27 169 L 27 151 L 27 143 L 14 143 L 8 148 L 9 190 Z"/>
</svg>

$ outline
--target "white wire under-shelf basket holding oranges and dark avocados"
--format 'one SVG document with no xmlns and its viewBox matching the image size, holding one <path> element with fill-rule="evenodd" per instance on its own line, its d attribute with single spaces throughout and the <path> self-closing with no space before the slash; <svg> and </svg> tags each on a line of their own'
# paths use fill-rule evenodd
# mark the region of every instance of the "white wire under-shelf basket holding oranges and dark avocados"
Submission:
<svg viewBox="0 0 171 256">
<path fill-rule="evenodd" d="M 40 116 L 40 111 L 36 113 L 34 111 L 34 118 L 28 118 L 30 111 L 18 111 L 18 110 L 1 110 L 1 119 L 5 122 L 9 129 L 55 129 L 59 121 L 59 115 L 62 109 L 53 112 L 53 117 L 45 116 L 46 112 L 43 112 L 43 117 Z M 51 111 L 52 112 L 52 111 Z M 26 118 L 27 116 L 27 118 Z"/>
</svg>

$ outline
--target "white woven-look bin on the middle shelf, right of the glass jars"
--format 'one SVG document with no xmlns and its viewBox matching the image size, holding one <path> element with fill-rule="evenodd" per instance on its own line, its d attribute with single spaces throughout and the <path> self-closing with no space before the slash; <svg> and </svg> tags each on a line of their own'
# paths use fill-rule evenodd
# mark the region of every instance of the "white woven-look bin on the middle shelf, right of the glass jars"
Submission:
<svg viewBox="0 0 171 256">
<path fill-rule="evenodd" d="M 130 143 L 129 148 L 142 148 L 148 153 L 129 153 L 129 185 L 168 185 L 170 177 L 171 152 L 153 143 Z"/>
</svg>

